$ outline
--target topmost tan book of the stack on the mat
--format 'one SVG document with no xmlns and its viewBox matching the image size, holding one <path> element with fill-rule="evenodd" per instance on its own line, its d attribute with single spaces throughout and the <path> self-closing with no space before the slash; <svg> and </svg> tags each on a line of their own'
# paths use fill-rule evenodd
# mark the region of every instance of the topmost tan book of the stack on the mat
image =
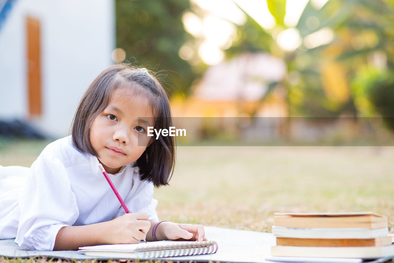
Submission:
<svg viewBox="0 0 394 263">
<path fill-rule="evenodd" d="M 383 228 L 386 216 L 373 212 L 274 213 L 274 225 L 300 228 Z"/>
</svg>

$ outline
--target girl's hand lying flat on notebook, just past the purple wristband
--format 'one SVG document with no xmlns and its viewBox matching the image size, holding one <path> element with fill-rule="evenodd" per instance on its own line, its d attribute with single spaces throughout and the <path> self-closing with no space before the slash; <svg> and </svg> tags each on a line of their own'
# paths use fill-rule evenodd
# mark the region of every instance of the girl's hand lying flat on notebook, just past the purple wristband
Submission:
<svg viewBox="0 0 394 263">
<path fill-rule="evenodd" d="M 166 223 L 166 224 L 165 224 Z M 206 241 L 202 225 L 163 222 L 164 234 L 169 240 Z M 160 226 L 160 225 L 159 225 Z"/>
</svg>

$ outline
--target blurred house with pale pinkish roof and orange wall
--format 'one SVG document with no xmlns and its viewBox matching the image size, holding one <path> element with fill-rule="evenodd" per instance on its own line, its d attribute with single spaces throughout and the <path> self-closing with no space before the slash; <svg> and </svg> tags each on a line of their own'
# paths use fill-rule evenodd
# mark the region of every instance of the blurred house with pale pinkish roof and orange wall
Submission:
<svg viewBox="0 0 394 263">
<path fill-rule="evenodd" d="M 174 98 L 173 115 L 178 117 L 287 116 L 285 90 L 270 83 L 286 74 L 286 64 L 266 53 L 244 53 L 206 70 L 193 94 Z"/>
</svg>

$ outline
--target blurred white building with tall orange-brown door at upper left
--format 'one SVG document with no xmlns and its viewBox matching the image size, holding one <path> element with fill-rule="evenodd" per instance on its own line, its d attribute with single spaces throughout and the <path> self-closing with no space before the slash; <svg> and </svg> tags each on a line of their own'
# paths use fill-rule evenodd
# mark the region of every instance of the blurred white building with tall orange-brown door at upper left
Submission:
<svg viewBox="0 0 394 263">
<path fill-rule="evenodd" d="M 68 134 L 82 94 L 113 62 L 114 0 L 0 0 L 0 119 Z"/>
</svg>

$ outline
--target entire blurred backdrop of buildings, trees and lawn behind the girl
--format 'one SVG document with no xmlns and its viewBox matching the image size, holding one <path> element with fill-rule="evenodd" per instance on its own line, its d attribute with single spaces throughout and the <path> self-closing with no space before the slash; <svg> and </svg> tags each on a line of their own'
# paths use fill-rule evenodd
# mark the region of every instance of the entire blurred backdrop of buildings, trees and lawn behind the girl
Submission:
<svg viewBox="0 0 394 263">
<path fill-rule="evenodd" d="M 178 147 L 164 218 L 267 230 L 273 211 L 394 209 L 392 0 L 1 0 L 0 164 L 68 135 L 117 62 L 157 73 L 193 139 L 365 146 Z"/>
</svg>

